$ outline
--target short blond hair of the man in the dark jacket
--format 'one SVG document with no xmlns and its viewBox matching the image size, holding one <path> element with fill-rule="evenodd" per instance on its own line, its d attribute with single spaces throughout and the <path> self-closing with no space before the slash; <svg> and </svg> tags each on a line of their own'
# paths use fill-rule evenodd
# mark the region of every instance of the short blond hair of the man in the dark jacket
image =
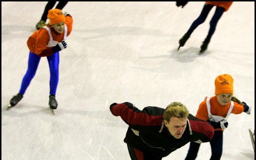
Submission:
<svg viewBox="0 0 256 160">
<path fill-rule="evenodd" d="M 173 102 L 166 107 L 163 117 L 169 122 L 171 117 L 184 118 L 188 115 L 189 111 L 186 106 L 180 102 Z"/>
</svg>

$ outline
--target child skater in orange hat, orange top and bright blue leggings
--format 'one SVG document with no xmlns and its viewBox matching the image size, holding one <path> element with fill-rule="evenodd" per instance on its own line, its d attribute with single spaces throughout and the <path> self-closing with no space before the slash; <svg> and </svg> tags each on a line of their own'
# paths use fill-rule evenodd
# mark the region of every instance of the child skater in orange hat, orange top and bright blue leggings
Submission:
<svg viewBox="0 0 256 160">
<path fill-rule="evenodd" d="M 48 18 L 50 19 L 49 24 L 34 32 L 27 40 L 30 50 L 28 69 L 22 80 L 19 93 L 10 100 L 12 106 L 23 98 L 26 89 L 35 76 L 41 57 L 46 56 L 50 68 L 49 106 L 52 109 L 57 108 L 55 95 L 59 80 L 59 51 L 67 47 L 64 40 L 72 31 L 73 19 L 69 14 L 64 16 L 59 9 L 50 9 Z"/>
</svg>

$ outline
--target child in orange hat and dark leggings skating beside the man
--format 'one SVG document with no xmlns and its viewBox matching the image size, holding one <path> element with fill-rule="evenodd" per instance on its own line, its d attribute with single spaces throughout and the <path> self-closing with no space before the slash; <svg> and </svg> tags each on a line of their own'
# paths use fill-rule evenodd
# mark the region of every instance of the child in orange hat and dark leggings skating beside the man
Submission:
<svg viewBox="0 0 256 160">
<path fill-rule="evenodd" d="M 233 78 L 229 74 L 222 74 L 215 79 L 215 95 L 200 104 L 196 118 L 208 120 L 214 126 L 214 136 L 210 141 L 212 155 L 210 160 L 220 160 L 223 146 L 223 131 L 228 127 L 228 117 L 231 113 L 250 114 L 251 107 L 240 102 L 233 95 Z M 200 144 L 191 142 L 185 160 L 195 160 Z"/>
</svg>

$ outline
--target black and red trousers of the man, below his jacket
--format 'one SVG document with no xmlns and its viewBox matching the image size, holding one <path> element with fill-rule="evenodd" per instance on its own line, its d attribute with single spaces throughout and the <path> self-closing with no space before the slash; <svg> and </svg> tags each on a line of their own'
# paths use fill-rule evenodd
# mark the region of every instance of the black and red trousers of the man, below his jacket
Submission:
<svg viewBox="0 0 256 160">
<path fill-rule="evenodd" d="M 127 147 L 131 160 L 162 160 L 162 158 L 156 157 L 156 155 L 141 152 L 129 144 L 127 144 Z"/>
</svg>

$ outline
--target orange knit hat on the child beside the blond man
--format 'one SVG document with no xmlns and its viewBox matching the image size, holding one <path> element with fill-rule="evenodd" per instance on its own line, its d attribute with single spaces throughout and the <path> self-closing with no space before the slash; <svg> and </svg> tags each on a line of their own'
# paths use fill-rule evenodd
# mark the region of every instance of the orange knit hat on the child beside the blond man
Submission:
<svg viewBox="0 0 256 160">
<path fill-rule="evenodd" d="M 233 78 L 229 74 L 222 74 L 215 79 L 215 95 L 233 94 Z"/>
</svg>

